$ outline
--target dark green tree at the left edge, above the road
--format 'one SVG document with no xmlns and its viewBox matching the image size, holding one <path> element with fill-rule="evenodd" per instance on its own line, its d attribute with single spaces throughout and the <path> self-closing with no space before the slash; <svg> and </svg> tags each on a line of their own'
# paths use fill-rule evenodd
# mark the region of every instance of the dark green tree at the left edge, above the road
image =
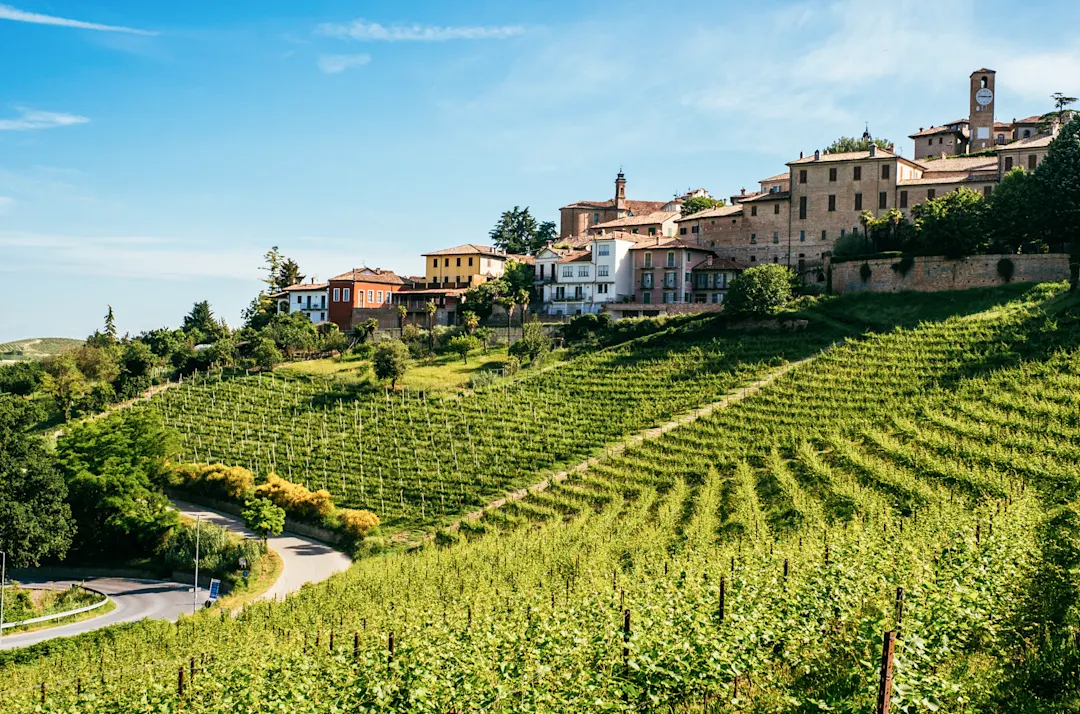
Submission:
<svg viewBox="0 0 1080 714">
<path fill-rule="evenodd" d="M 64 557 L 75 534 L 55 459 L 43 437 L 27 433 L 41 416 L 32 402 L 0 396 L 0 550 L 9 568 Z"/>
</svg>

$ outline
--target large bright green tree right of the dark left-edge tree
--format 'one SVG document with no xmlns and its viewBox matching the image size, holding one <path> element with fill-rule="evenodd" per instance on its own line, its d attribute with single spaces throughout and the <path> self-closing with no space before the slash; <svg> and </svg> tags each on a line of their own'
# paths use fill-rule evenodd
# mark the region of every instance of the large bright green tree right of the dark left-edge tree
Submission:
<svg viewBox="0 0 1080 714">
<path fill-rule="evenodd" d="M 78 527 L 76 549 L 109 558 L 153 553 L 178 523 L 157 488 L 175 453 L 175 434 L 149 409 L 119 412 L 60 436 L 56 460 Z"/>
</svg>

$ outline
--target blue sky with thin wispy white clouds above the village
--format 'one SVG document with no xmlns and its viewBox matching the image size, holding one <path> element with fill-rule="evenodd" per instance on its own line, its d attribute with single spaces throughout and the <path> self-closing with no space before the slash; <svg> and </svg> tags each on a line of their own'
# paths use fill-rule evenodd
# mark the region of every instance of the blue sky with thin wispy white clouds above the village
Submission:
<svg viewBox="0 0 1080 714">
<path fill-rule="evenodd" d="M 14 4 L 5 4 L 12 2 Z M 1016 9 L 1022 8 L 1017 13 Z M 325 279 L 499 214 L 752 188 L 838 135 L 1080 94 L 1078 3 L 0 0 L 0 341 L 230 324 L 271 245 Z"/>
</svg>

